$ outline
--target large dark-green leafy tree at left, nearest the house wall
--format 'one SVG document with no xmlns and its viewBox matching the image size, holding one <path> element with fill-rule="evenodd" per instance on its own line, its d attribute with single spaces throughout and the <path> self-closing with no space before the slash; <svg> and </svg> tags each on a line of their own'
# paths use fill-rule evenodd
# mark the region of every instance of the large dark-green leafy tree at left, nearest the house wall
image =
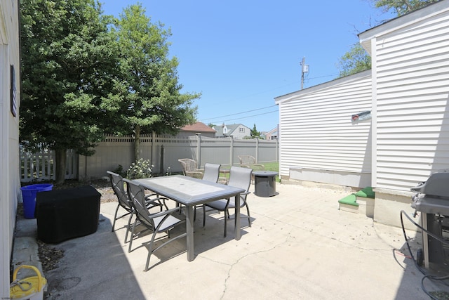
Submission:
<svg viewBox="0 0 449 300">
<path fill-rule="evenodd" d="M 20 12 L 20 141 L 55 150 L 62 183 L 67 149 L 91 155 L 103 137 L 109 107 L 102 98 L 115 63 L 112 19 L 95 0 L 22 0 Z"/>
</svg>

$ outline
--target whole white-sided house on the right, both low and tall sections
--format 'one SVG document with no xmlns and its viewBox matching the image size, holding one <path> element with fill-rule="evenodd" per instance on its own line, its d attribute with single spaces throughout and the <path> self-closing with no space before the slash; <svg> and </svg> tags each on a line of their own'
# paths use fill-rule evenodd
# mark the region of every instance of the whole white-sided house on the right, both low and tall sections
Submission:
<svg viewBox="0 0 449 300">
<path fill-rule="evenodd" d="M 373 186 L 375 221 L 400 226 L 410 188 L 449 168 L 448 32 L 443 0 L 359 34 L 372 70 L 277 97 L 281 176 Z"/>
</svg>

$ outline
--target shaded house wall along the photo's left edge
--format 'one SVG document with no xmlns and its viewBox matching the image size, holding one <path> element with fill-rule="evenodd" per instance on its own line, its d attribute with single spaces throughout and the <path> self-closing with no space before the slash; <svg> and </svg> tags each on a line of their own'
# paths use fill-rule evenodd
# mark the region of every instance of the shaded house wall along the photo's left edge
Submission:
<svg viewBox="0 0 449 300">
<path fill-rule="evenodd" d="M 9 298 L 9 263 L 17 204 L 19 175 L 20 47 L 19 1 L 0 5 L 0 293 Z"/>
</svg>

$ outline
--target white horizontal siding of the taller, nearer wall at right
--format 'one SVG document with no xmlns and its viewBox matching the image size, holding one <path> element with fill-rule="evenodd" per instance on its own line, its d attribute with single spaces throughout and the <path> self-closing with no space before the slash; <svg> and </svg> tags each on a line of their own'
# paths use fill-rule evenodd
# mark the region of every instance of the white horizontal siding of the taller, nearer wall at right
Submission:
<svg viewBox="0 0 449 300">
<path fill-rule="evenodd" d="M 449 168 L 449 14 L 377 37 L 377 188 Z"/>
</svg>

